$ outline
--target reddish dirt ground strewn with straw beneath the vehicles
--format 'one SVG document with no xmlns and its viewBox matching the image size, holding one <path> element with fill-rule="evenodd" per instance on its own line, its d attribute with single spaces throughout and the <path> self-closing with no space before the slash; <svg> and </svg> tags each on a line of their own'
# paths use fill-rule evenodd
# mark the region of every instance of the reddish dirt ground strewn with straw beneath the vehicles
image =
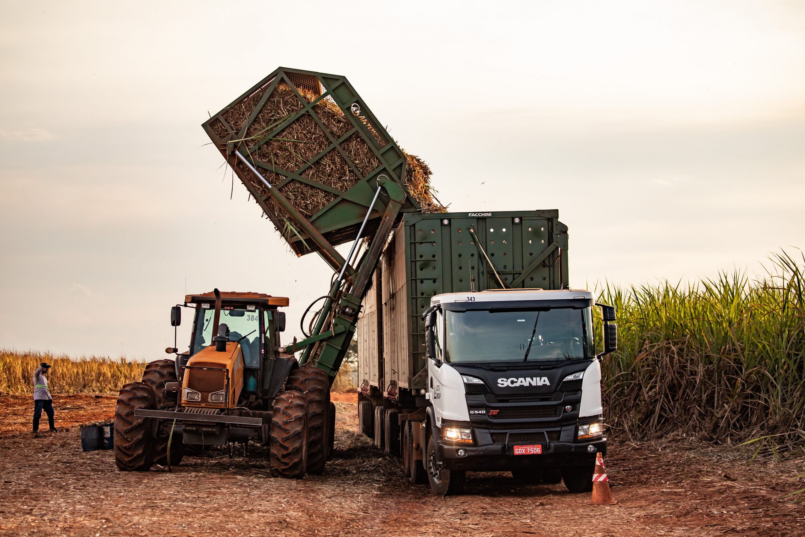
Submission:
<svg viewBox="0 0 805 537">
<path fill-rule="evenodd" d="M 324 474 L 270 477 L 264 448 L 185 457 L 122 473 L 109 451 L 82 452 L 78 423 L 108 419 L 114 396 L 56 395 L 56 426 L 30 432 L 30 396 L 0 397 L 0 535 L 805 535 L 805 459 L 750 463 L 689 439 L 610 445 L 615 506 L 564 485 L 471 473 L 466 494 L 411 485 L 357 434 L 356 397 L 337 401 L 336 452 Z"/>
</svg>

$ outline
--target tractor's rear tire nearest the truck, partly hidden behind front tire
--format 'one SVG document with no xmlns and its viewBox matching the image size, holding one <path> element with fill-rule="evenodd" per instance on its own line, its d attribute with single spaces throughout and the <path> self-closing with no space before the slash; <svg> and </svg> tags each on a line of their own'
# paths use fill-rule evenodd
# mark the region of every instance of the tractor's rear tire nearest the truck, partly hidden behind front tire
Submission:
<svg viewBox="0 0 805 537">
<path fill-rule="evenodd" d="M 299 367 L 285 381 L 286 390 L 299 390 L 308 398 L 308 473 L 324 472 L 330 445 L 330 378 L 318 367 Z"/>
</svg>

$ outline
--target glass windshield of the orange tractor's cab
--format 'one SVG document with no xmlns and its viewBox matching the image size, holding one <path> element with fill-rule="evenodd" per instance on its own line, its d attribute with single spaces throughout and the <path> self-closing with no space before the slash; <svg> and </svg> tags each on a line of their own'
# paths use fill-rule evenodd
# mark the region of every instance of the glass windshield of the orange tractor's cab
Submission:
<svg viewBox="0 0 805 537">
<path fill-rule="evenodd" d="M 196 337 L 193 354 L 213 344 L 213 308 L 200 309 L 196 318 Z M 260 366 L 260 312 L 247 312 L 246 308 L 224 306 L 218 321 L 229 327 L 229 341 L 240 341 L 246 367 Z"/>
</svg>

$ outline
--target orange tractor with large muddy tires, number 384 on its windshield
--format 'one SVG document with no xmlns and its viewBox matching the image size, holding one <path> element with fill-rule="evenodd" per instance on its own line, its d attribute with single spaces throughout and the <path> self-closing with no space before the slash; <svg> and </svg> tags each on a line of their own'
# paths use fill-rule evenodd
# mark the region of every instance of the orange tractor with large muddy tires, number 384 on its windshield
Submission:
<svg viewBox="0 0 805 537">
<path fill-rule="evenodd" d="M 178 465 L 186 450 L 257 442 L 279 477 L 321 473 L 332 452 L 335 406 L 330 378 L 281 352 L 288 299 L 251 292 L 187 295 L 171 324 L 192 308 L 190 348 L 152 361 L 142 382 L 120 390 L 114 456 L 121 470 Z M 175 344 L 174 344 L 175 345 Z"/>
</svg>

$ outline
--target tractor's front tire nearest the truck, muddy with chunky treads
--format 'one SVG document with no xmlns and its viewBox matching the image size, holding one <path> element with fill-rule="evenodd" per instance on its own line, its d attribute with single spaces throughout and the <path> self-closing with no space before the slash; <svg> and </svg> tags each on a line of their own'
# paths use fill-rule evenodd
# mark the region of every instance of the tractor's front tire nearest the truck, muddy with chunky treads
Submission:
<svg viewBox="0 0 805 537">
<path fill-rule="evenodd" d="M 271 473 L 300 479 L 308 465 L 308 399 L 297 390 L 274 398 L 270 426 Z"/>
</svg>

